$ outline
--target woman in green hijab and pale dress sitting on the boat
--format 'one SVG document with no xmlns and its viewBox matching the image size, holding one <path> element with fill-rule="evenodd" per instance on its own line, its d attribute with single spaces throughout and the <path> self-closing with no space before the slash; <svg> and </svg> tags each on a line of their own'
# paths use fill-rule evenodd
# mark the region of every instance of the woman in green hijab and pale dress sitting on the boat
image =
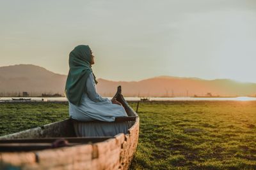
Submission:
<svg viewBox="0 0 256 170">
<path fill-rule="evenodd" d="M 71 118 L 83 122 L 101 120 L 113 122 L 116 117 L 127 117 L 122 104 L 101 97 L 92 71 L 94 56 L 88 45 L 79 45 L 69 54 L 69 72 L 65 93 Z"/>
</svg>

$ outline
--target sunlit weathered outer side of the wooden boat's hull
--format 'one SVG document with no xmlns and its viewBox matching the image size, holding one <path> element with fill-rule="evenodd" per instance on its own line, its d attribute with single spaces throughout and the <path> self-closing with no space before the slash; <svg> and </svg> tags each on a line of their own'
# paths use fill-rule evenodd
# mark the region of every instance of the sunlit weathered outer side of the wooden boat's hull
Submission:
<svg viewBox="0 0 256 170">
<path fill-rule="evenodd" d="M 138 118 L 139 121 L 139 118 Z M 128 134 L 99 143 L 1 154 L 0 169 L 128 169 L 138 145 L 139 122 Z"/>
</svg>

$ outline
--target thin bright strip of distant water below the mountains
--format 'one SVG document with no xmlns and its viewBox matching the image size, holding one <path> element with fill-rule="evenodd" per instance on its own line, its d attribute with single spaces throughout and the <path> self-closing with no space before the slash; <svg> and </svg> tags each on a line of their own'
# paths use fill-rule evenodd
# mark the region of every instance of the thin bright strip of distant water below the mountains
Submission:
<svg viewBox="0 0 256 170">
<path fill-rule="evenodd" d="M 66 97 L 0 97 L 0 102 L 13 101 L 12 98 L 31 101 L 67 101 Z M 124 97 L 126 101 L 140 101 L 140 97 Z M 112 99 L 112 97 L 108 97 Z M 256 101 L 256 97 L 148 97 L 149 101 Z"/>
</svg>

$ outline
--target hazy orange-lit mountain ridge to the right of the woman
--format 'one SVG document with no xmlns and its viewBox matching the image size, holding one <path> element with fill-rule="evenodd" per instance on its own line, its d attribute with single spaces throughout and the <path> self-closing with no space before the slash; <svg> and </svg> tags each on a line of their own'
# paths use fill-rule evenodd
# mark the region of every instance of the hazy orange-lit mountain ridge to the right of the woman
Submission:
<svg viewBox="0 0 256 170">
<path fill-rule="evenodd" d="M 141 81 L 108 81 L 99 79 L 97 85 L 100 94 L 112 96 L 116 86 L 122 85 L 124 96 L 172 97 L 172 96 L 255 96 L 256 83 L 239 83 L 237 81 L 202 80 L 199 78 L 177 78 L 159 76 Z"/>
</svg>

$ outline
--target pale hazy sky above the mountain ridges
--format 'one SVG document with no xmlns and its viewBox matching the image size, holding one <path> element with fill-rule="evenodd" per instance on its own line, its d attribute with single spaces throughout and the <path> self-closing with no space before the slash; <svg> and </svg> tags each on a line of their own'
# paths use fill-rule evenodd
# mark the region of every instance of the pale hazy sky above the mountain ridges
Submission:
<svg viewBox="0 0 256 170">
<path fill-rule="evenodd" d="M 1 0 L 0 66 L 68 74 L 89 45 L 97 78 L 228 78 L 256 83 L 255 0 Z"/>
</svg>

